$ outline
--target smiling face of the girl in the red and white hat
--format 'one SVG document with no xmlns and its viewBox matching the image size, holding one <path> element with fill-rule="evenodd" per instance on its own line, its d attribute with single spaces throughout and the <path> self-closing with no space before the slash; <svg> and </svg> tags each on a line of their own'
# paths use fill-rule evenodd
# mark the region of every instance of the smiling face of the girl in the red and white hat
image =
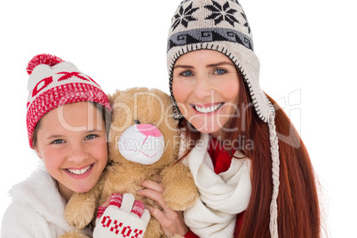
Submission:
<svg viewBox="0 0 357 238">
<path fill-rule="evenodd" d="M 36 136 L 36 153 L 66 200 L 95 185 L 107 164 L 107 139 L 102 115 L 93 104 L 53 109 L 41 119 Z"/>
</svg>

